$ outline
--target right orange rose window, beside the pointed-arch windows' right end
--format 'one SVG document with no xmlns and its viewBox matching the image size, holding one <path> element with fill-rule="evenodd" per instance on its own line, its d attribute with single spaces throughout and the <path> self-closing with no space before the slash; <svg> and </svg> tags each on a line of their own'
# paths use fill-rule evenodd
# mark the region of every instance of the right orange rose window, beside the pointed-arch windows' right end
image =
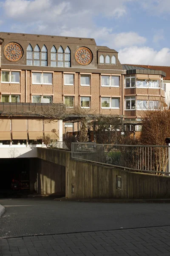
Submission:
<svg viewBox="0 0 170 256">
<path fill-rule="evenodd" d="M 86 47 L 80 47 L 75 52 L 75 59 L 80 65 L 88 65 L 92 61 L 92 52 Z"/>
</svg>

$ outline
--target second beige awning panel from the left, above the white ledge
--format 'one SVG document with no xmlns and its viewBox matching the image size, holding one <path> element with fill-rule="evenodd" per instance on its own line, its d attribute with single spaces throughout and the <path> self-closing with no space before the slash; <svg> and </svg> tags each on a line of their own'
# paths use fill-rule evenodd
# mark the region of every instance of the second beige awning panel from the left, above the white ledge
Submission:
<svg viewBox="0 0 170 256">
<path fill-rule="evenodd" d="M 27 140 L 27 119 L 12 119 L 12 139 Z"/>
</svg>

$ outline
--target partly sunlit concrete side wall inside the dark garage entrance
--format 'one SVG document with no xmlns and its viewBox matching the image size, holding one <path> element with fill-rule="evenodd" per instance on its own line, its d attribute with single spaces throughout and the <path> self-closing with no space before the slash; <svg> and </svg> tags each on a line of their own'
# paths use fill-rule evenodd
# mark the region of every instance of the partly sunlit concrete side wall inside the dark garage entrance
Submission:
<svg viewBox="0 0 170 256">
<path fill-rule="evenodd" d="M 30 190 L 41 195 L 65 196 L 65 166 L 30 159 Z"/>
</svg>

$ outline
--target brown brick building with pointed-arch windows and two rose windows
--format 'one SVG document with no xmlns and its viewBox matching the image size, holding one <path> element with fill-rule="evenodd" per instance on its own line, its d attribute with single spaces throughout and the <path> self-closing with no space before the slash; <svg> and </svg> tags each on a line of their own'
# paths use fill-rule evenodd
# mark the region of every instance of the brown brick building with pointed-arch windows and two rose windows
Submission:
<svg viewBox="0 0 170 256">
<path fill-rule="evenodd" d="M 3 109 L 8 102 L 16 105 L 53 102 L 64 103 L 70 108 L 75 104 L 96 114 L 136 120 L 140 118 L 140 111 L 157 108 L 159 102 L 164 101 L 163 71 L 122 65 L 116 50 L 97 46 L 93 38 L 0 32 L 0 52 Z M 4 120 L 2 115 L 0 118 Z M 24 138 L 30 140 L 35 138 L 28 132 L 34 122 L 29 125 L 28 119 Z M 12 123 L 11 120 L 8 124 L 11 140 Z M 59 126 L 61 128 L 61 123 L 58 131 Z M 77 125 L 72 126 L 70 122 L 65 123 L 63 132 L 78 129 Z M 4 129 L 5 125 L 1 125 L 0 140 L 5 138 Z M 38 129 L 44 134 L 45 124 Z M 20 133 L 15 139 L 21 140 Z"/>
</svg>

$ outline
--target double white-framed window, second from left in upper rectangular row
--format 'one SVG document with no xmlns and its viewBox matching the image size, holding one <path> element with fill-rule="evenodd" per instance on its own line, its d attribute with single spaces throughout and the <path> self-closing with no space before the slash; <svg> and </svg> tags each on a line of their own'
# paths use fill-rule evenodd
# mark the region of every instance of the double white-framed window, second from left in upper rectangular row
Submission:
<svg viewBox="0 0 170 256">
<path fill-rule="evenodd" d="M 52 84 L 52 73 L 32 73 L 32 84 Z"/>
</svg>

